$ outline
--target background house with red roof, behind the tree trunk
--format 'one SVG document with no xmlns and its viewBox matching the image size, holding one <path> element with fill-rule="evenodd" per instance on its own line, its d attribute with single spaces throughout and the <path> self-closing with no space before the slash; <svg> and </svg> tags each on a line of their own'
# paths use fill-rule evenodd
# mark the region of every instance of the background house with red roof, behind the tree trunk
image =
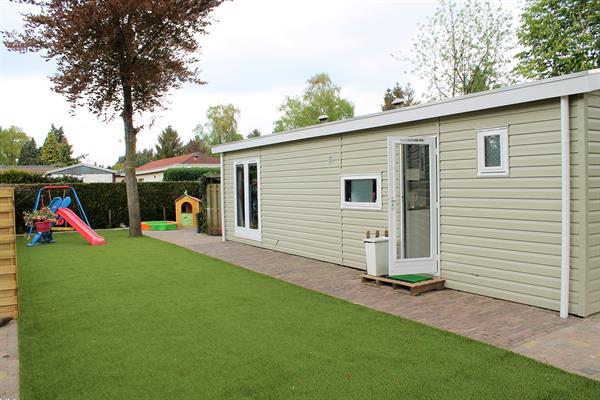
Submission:
<svg viewBox="0 0 600 400">
<path fill-rule="evenodd" d="M 150 161 L 137 167 L 135 175 L 138 182 L 162 182 L 164 173 L 169 168 L 219 168 L 219 159 L 204 153 L 190 153 L 177 157 Z M 116 182 L 125 181 L 125 172 L 119 171 Z"/>
</svg>

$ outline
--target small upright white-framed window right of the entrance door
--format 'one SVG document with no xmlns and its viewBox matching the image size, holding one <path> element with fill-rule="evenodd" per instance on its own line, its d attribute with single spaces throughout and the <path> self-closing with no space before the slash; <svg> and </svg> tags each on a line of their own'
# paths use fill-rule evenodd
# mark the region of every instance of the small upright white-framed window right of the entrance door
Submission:
<svg viewBox="0 0 600 400">
<path fill-rule="evenodd" d="M 508 175 L 508 129 L 477 131 L 477 175 Z"/>
</svg>

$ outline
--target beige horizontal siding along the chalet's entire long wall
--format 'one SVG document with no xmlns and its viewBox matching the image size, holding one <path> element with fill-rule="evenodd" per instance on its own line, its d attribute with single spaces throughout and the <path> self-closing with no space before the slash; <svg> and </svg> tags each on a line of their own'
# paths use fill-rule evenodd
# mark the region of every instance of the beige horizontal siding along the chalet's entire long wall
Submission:
<svg viewBox="0 0 600 400">
<path fill-rule="evenodd" d="M 581 142 L 585 125 L 579 115 L 582 101 L 583 96 L 571 99 L 570 312 L 578 315 L 587 314 L 582 301 L 587 292 L 587 249 L 582 239 L 587 228 L 586 207 L 581 201 L 586 188 Z M 476 130 L 498 126 L 509 128 L 510 176 L 477 177 Z M 226 153 L 227 239 L 364 269 L 365 232 L 383 231 L 388 225 L 387 137 L 415 135 L 439 137 L 441 274 L 447 286 L 557 310 L 561 261 L 559 99 Z M 233 235 L 232 162 L 250 156 L 261 159 L 261 243 Z M 382 174 L 382 210 L 340 208 L 340 176 L 355 173 Z M 600 165 L 598 173 L 600 176 Z M 600 208 L 596 210 L 600 217 Z M 600 226 L 600 218 L 598 222 Z M 600 246 L 590 249 L 600 256 Z M 594 271 L 592 275 L 600 278 L 600 269 Z M 590 293 L 590 298 L 595 293 Z M 597 303 L 600 305 L 600 299 Z"/>
</svg>

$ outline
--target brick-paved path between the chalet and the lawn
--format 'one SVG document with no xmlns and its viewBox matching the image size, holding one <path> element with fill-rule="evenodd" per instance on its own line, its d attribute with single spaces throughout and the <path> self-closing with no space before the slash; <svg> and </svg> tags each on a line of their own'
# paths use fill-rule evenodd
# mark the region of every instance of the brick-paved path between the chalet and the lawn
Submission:
<svg viewBox="0 0 600 400">
<path fill-rule="evenodd" d="M 561 319 L 557 312 L 445 289 L 407 296 L 360 283 L 361 271 L 260 249 L 192 230 L 148 236 L 352 303 L 490 343 L 600 380 L 600 314 Z"/>
</svg>

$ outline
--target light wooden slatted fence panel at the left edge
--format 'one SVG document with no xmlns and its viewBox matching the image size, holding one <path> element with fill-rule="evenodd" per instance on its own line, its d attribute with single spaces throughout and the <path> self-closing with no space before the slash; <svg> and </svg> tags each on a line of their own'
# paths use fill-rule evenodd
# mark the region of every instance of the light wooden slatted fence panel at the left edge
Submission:
<svg viewBox="0 0 600 400">
<path fill-rule="evenodd" d="M 0 187 L 0 319 L 19 316 L 15 204 L 11 187 Z"/>
</svg>

